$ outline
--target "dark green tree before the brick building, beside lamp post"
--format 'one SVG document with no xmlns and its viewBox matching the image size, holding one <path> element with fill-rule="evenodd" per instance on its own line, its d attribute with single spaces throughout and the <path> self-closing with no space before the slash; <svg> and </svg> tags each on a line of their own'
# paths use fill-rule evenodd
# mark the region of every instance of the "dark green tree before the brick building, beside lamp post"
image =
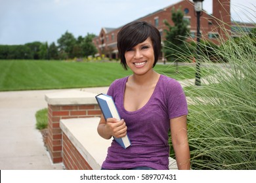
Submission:
<svg viewBox="0 0 256 183">
<path fill-rule="evenodd" d="M 165 29 L 166 36 L 163 46 L 163 53 L 168 61 L 176 61 L 180 55 L 188 53 L 186 39 L 190 29 L 188 29 L 188 22 L 183 19 L 183 16 L 181 9 L 175 11 L 173 8 L 171 19 L 175 25 L 171 26 L 166 20 L 164 22 L 169 29 Z"/>
</svg>

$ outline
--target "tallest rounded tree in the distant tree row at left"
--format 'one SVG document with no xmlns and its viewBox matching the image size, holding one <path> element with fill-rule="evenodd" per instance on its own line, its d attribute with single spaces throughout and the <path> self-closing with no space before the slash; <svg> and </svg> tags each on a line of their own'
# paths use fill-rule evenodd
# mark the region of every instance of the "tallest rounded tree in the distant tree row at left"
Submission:
<svg viewBox="0 0 256 183">
<path fill-rule="evenodd" d="M 68 54 L 69 58 L 72 58 L 72 51 L 76 44 L 74 35 L 66 31 L 66 33 L 64 33 L 64 35 L 62 35 L 57 42 L 58 47 L 60 48 L 60 52 L 65 52 L 66 54 Z"/>
</svg>

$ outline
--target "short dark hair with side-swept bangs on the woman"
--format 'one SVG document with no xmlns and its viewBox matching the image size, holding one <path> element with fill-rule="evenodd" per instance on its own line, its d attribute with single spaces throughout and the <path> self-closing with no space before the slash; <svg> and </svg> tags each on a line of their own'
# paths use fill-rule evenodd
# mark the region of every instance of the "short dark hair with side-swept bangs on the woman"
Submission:
<svg viewBox="0 0 256 183">
<path fill-rule="evenodd" d="M 121 65 L 123 65 L 125 70 L 127 70 L 125 52 L 137 44 L 144 42 L 148 37 L 150 37 L 153 44 L 154 67 L 161 52 L 161 35 L 158 29 L 148 22 L 131 22 L 121 28 L 117 34 L 117 49 L 121 59 Z"/>
</svg>

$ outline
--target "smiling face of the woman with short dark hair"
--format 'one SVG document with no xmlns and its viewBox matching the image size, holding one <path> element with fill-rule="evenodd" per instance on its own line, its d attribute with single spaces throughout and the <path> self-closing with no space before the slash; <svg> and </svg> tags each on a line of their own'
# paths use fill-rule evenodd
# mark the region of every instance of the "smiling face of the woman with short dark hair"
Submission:
<svg viewBox="0 0 256 183">
<path fill-rule="evenodd" d="M 150 37 L 125 52 L 128 67 L 136 75 L 144 75 L 154 65 L 154 48 Z"/>
</svg>

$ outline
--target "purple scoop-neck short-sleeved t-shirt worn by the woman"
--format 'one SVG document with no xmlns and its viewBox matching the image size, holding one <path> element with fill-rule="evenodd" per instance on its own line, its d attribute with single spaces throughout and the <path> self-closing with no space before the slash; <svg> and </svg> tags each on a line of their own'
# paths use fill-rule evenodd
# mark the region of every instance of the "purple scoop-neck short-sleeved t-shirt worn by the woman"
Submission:
<svg viewBox="0 0 256 183">
<path fill-rule="evenodd" d="M 169 169 L 170 119 L 188 114 L 181 84 L 173 78 L 161 75 L 148 103 L 137 111 L 129 112 L 123 107 L 127 80 L 128 76 L 115 80 L 110 85 L 108 95 L 113 97 L 121 118 L 125 120 L 132 145 L 124 149 L 116 141 L 112 141 L 102 167 Z"/>
</svg>

